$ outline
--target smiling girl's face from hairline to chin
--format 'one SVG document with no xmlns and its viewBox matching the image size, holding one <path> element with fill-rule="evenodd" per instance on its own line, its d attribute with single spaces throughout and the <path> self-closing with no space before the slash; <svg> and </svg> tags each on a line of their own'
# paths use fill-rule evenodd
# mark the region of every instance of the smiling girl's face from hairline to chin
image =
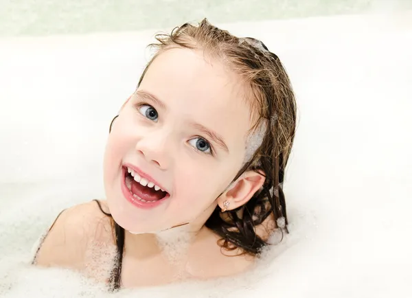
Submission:
<svg viewBox="0 0 412 298">
<path fill-rule="evenodd" d="M 121 227 L 145 233 L 205 222 L 244 159 L 244 92 L 240 78 L 203 51 L 157 56 L 106 146 L 104 186 Z"/>
</svg>

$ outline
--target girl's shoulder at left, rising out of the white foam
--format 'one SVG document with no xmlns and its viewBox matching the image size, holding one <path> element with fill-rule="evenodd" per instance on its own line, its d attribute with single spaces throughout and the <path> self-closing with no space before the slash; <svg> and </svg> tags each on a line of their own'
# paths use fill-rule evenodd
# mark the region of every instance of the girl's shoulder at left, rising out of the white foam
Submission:
<svg viewBox="0 0 412 298">
<path fill-rule="evenodd" d="M 100 201 L 100 206 L 108 213 L 104 201 Z M 114 245 L 111 218 L 102 210 L 96 201 L 91 201 L 62 211 L 41 244 L 35 264 L 82 270 L 92 244 Z"/>
</svg>

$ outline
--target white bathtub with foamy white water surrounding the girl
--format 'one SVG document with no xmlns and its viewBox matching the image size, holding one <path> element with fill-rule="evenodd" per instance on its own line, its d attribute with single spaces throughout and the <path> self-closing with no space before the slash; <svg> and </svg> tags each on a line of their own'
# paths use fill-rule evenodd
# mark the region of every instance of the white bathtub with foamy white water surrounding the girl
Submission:
<svg viewBox="0 0 412 298">
<path fill-rule="evenodd" d="M 284 183 L 290 234 L 252 273 L 114 296 L 412 297 L 411 20 L 225 26 L 262 39 L 297 93 Z M 1 297 L 105 297 L 76 273 L 27 263 L 60 209 L 104 196 L 108 125 L 134 89 L 146 43 L 139 34 L 0 40 Z"/>
</svg>

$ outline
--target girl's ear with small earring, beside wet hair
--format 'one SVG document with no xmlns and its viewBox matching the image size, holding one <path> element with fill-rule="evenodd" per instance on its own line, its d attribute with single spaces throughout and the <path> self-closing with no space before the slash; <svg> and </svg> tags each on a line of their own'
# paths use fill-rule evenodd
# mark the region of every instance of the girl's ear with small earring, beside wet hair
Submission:
<svg viewBox="0 0 412 298">
<path fill-rule="evenodd" d="M 247 203 L 253 194 L 262 187 L 266 177 L 262 171 L 244 172 L 231 186 L 218 198 L 221 209 L 236 209 Z"/>
</svg>

